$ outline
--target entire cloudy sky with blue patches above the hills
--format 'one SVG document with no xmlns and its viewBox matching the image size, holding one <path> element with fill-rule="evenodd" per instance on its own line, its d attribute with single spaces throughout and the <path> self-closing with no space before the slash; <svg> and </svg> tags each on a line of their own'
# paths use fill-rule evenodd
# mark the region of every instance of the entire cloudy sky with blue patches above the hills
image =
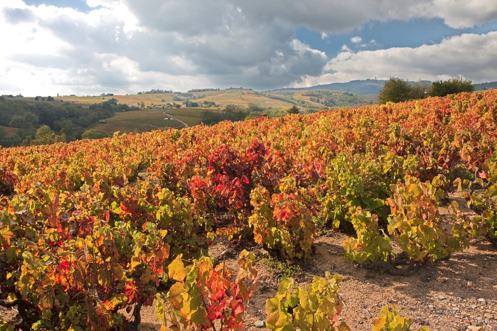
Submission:
<svg viewBox="0 0 497 331">
<path fill-rule="evenodd" d="M 1 0 L 0 94 L 497 81 L 495 0 Z"/>
</svg>

